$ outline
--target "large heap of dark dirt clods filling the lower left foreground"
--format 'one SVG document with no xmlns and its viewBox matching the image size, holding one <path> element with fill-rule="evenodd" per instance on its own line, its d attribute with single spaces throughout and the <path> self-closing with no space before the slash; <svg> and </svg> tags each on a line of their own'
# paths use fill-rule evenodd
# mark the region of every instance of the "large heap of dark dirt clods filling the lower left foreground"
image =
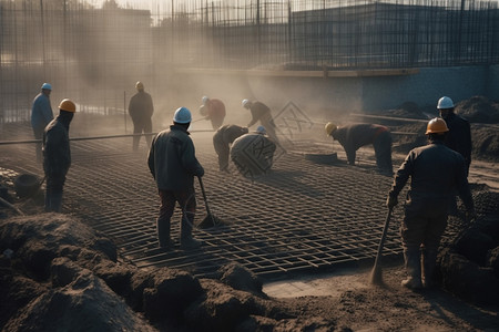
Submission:
<svg viewBox="0 0 499 332">
<path fill-rule="evenodd" d="M 40 214 L 1 220 L 2 331 L 256 331 L 316 322 L 262 292 L 237 264 L 217 279 L 167 268 L 139 270 L 112 241 L 69 216 Z M 322 322 L 334 330 L 334 322 Z M 256 328 L 256 329 L 255 329 Z"/>
</svg>

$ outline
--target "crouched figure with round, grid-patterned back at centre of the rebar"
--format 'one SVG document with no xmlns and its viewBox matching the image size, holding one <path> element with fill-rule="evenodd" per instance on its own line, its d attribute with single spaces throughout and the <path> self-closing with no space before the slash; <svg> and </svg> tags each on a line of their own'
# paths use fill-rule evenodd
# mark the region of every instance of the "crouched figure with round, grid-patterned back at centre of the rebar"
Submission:
<svg viewBox="0 0 499 332">
<path fill-rule="evenodd" d="M 248 178 L 266 174 L 274 159 L 275 143 L 266 135 L 264 126 L 240 136 L 231 148 L 231 159 L 240 173 Z"/>
</svg>

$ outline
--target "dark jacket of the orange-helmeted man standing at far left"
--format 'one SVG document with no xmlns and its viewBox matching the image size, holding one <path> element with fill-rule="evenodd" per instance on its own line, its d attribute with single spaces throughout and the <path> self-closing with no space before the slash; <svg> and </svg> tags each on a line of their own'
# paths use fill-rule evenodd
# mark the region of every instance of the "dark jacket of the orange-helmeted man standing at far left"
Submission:
<svg viewBox="0 0 499 332">
<path fill-rule="evenodd" d="M 72 113 L 64 112 L 52 120 L 43 133 L 43 169 L 48 177 L 65 176 L 71 166 L 69 125 Z"/>
</svg>

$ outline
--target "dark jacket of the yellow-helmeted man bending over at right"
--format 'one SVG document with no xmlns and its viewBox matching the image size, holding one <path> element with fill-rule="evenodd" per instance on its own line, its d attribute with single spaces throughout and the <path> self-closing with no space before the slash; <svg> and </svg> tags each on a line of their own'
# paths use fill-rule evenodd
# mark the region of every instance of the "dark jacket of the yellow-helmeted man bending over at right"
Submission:
<svg viewBox="0 0 499 332">
<path fill-rule="evenodd" d="M 355 164 L 357 149 L 361 146 L 373 144 L 379 134 L 389 129 L 376 124 L 353 124 L 340 126 L 333 132 L 333 138 L 342 144 L 347 155 L 348 164 Z"/>
</svg>

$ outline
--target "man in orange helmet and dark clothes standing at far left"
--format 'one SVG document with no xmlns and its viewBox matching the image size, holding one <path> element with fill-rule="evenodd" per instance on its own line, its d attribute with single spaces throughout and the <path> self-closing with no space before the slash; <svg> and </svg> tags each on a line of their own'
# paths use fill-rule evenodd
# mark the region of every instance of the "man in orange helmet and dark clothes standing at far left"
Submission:
<svg viewBox="0 0 499 332">
<path fill-rule="evenodd" d="M 60 212 L 65 176 L 71 166 L 69 126 L 77 105 L 70 100 L 59 104 L 59 115 L 43 132 L 43 170 L 45 173 L 45 211 Z"/>
</svg>

